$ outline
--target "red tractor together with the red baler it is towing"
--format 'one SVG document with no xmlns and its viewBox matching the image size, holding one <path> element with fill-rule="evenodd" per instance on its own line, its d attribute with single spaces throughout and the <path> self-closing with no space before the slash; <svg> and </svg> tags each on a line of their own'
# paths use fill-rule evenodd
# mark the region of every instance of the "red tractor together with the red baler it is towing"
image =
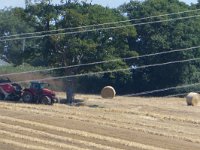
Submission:
<svg viewBox="0 0 200 150">
<path fill-rule="evenodd" d="M 57 102 L 55 92 L 46 88 L 48 83 L 30 82 L 28 88 L 22 89 L 19 84 L 12 83 L 9 78 L 0 79 L 0 100 L 23 100 L 25 103 L 41 103 L 52 105 Z"/>
</svg>

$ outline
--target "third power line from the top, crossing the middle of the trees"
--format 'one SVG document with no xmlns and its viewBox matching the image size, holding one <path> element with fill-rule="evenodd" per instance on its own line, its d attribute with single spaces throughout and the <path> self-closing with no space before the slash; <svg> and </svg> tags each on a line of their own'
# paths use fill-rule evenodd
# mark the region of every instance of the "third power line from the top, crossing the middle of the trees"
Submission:
<svg viewBox="0 0 200 150">
<path fill-rule="evenodd" d="M 92 62 L 92 63 L 86 63 L 86 64 L 78 64 L 78 65 L 71 65 L 71 66 L 65 66 L 65 67 L 55 67 L 55 68 L 49 68 L 49 69 L 43 69 L 43 70 L 34 70 L 34 71 L 2 74 L 2 75 L 0 75 L 0 77 L 1 76 L 10 76 L 10 75 L 21 75 L 21 74 L 27 74 L 27 73 L 36 73 L 36 72 L 47 72 L 47 71 L 53 71 L 53 70 L 59 70 L 59 69 L 68 69 L 68 68 L 75 68 L 75 67 L 83 67 L 83 66 L 103 64 L 103 63 L 109 63 L 109 62 L 116 62 L 116 61 L 121 61 L 121 60 L 125 61 L 125 60 L 130 60 L 130 59 L 145 58 L 145 57 L 169 54 L 169 53 L 174 53 L 174 52 L 188 51 L 188 50 L 197 49 L 197 48 L 200 48 L 200 45 L 199 46 L 195 46 L 195 47 L 185 48 L 185 49 L 176 49 L 176 50 L 164 51 L 164 52 L 153 53 L 153 54 L 145 54 L 145 55 L 141 55 L 141 56 L 127 57 L 127 58 L 122 58 L 122 59 L 113 59 L 113 60 Z"/>
</svg>

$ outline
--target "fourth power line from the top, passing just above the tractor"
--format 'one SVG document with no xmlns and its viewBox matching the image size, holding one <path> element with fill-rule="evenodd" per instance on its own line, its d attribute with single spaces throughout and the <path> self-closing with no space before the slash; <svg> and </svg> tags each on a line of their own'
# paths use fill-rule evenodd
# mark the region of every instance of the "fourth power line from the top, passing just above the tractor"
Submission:
<svg viewBox="0 0 200 150">
<path fill-rule="evenodd" d="M 176 63 L 185 63 L 185 62 L 197 61 L 197 60 L 200 60 L 200 57 L 199 58 L 193 58 L 193 59 L 185 59 L 185 60 L 179 60 L 179 61 L 165 62 L 165 63 L 160 63 L 160 64 L 144 65 L 144 66 L 140 66 L 140 67 L 137 67 L 137 68 L 115 69 L 115 70 L 90 72 L 90 73 L 76 74 L 76 75 L 48 77 L 48 78 L 35 79 L 35 80 L 38 80 L 38 81 L 48 81 L 48 80 L 67 79 L 67 78 L 75 78 L 75 77 L 83 77 L 83 76 L 94 76 L 94 75 L 105 74 L 105 73 L 115 73 L 115 72 L 122 72 L 122 71 L 130 71 L 130 70 L 135 70 L 135 69 L 144 69 L 144 68 L 149 68 L 149 67 L 157 67 L 157 66 L 170 65 L 170 64 L 176 64 Z M 31 82 L 31 81 L 35 81 L 35 80 L 24 80 L 24 81 L 18 81 L 18 82 L 15 82 L 15 83 L 26 83 L 26 82 Z M 168 89 L 170 89 L 170 88 L 167 88 L 165 90 L 168 90 Z M 147 92 L 132 94 L 130 96 L 146 95 L 146 94 L 150 94 L 150 93 L 154 93 L 154 92 L 159 92 L 159 91 L 162 91 L 162 90 L 163 89 L 161 89 L 161 90 L 154 90 L 154 91 L 147 91 Z"/>
</svg>

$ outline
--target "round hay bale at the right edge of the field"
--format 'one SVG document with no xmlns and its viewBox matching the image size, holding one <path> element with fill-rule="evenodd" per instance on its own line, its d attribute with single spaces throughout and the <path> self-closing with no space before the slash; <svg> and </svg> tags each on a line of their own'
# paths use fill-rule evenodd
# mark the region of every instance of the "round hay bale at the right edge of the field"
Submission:
<svg viewBox="0 0 200 150">
<path fill-rule="evenodd" d="M 186 96 L 186 102 L 188 106 L 197 106 L 200 101 L 200 95 L 198 93 L 190 92 Z"/>
</svg>

